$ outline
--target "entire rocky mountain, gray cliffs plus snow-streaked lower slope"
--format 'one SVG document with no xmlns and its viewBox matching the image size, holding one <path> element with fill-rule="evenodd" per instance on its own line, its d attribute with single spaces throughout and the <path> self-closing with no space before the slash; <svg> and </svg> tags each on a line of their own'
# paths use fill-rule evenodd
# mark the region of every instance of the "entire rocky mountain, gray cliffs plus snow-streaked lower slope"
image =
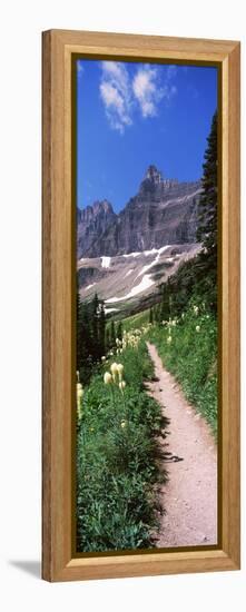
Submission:
<svg viewBox="0 0 246 612">
<path fill-rule="evenodd" d="M 77 208 L 77 269 L 82 300 L 95 293 L 121 318 L 157 300 L 158 288 L 200 249 L 201 182 L 166 179 L 149 166 L 136 196 L 117 215 L 107 200 Z"/>
</svg>

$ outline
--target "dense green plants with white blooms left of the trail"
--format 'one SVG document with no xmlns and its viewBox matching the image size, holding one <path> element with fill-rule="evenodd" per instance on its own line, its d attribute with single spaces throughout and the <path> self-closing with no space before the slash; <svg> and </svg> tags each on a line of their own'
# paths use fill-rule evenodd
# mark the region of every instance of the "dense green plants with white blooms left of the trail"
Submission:
<svg viewBox="0 0 246 612">
<path fill-rule="evenodd" d="M 111 362 L 116 356 L 111 357 Z M 77 550 L 147 549 L 158 530 L 158 487 L 166 480 L 166 421 L 146 392 L 152 376 L 145 342 L 117 356 L 126 387 L 105 384 L 107 359 L 85 389 L 77 436 Z"/>
</svg>

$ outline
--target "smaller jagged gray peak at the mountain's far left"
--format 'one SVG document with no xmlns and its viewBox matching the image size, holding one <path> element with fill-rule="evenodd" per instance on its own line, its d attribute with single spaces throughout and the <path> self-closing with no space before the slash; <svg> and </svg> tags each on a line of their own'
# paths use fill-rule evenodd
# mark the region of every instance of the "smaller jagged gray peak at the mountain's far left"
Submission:
<svg viewBox="0 0 246 612">
<path fill-rule="evenodd" d="M 95 201 L 83 209 L 77 208 L 77 251 L 82 257 L 105 233 L 117 215 L 108 200 Z"/>
</svg>

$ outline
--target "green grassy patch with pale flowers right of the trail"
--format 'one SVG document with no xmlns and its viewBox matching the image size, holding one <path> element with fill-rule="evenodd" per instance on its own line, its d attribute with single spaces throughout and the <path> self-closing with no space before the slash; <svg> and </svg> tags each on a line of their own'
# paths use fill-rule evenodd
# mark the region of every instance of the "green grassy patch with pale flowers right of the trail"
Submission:
<svg viewBox="0 0 246 612">
<path fill-rule="evenodd" d="M 217 433 L 217 322 L 193 300 L 186 313 L 149 332 L 165 367 Z"/>
</svg>

